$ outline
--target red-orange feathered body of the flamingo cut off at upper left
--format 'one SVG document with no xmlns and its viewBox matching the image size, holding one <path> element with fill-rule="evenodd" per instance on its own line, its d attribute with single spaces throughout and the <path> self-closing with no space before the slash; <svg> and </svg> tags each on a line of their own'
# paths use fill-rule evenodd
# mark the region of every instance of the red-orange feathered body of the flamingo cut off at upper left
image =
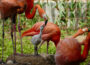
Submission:
<svg viewBox="0 0 90 65">
<path fill-rule="evenodd" d="M 17 13 L 24 12 L 26 7 L 25 0 L 1 0 L 0 1 L 0 14 L 1 18 L 12 17 Z"/>
</svg>

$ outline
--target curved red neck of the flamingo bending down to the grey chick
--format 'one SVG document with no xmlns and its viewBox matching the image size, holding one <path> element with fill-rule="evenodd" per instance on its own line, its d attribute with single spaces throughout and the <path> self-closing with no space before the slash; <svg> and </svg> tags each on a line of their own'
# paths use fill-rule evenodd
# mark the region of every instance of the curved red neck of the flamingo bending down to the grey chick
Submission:
<svg viewBox="0 0 90 65">
<path fill-rule="evenodd" d="M 27 9 L 25 11 L 25 16 L 28 18 L 28 19 L 32 19 L 34 16 L 35 16 L 35 13 L 36 13 L 36 10 L 38 9 L 38 12 L 39 12 L 39 15 L 42 17 L 42 12 L 44 12 L 44 10 L 40 7 L 40 5 L 35 5 L 34 6 L 34 1 L 33 0 L 27 0 Z M 32 13 L 30 13 L 32 9 Z"/>
</svg>

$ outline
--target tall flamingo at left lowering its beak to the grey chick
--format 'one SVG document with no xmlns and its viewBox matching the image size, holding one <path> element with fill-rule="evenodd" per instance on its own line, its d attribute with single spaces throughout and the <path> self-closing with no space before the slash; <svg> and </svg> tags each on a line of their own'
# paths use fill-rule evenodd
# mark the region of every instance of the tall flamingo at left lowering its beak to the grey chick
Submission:
<svg viewBox="0 0 90 65">
<path fill-rule="evenodd" d="M 14 42 L 13 42 L 13 31 L 14 31 L 14 37 L 15 37 L 14 54 L 16 54 L 16 17 L 17 17 L 17 14 L 21 14 L 25 11 L 26 17 L 31 19 L 34 17 L 36 9 L 38 9 L 40 16 L 43 17 L 45 20 L 47 20 L 46 13 L 44 12 L 44 10 L 39 5 L 36 5 L 33 8 L 33 4 L 34 4 L 34 0 L 0 0 L 0 18 L 3 20 L 2 61 L 3 61 L 3 46 L 4 46 L 4 21 L 7 18 L 10 18 L 12 21 L 11 37 L 12 37 L 13 48 L 14 48 Z M 33 8 L 33 11 L 32 11 L 32 14 L 30 14 L 30 11 L 32 8 Z M 19 27 L 18 29 L 20 32 L 20 25 L 18 27 Z M 21 43 L 21 47 L 22 47 L 22 43 Z M 23 53 L 22 50 L 21 50 L 21 53 Z"/>
</svg>

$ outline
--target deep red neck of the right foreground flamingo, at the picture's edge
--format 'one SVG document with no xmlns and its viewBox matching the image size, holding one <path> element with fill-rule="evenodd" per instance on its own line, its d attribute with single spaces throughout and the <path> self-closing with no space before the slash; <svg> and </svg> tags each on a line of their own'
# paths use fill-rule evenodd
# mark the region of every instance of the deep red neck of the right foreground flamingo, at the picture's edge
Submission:
<svg viewBox="0 0 90 65">
<path fill-rule="evenodd" d="M 84 41 L 84 50 L 83 50 L 83 53 L 81 55 L 81 60 L 82 61 L 84 61 L 87 58 L 89 48 L 90 48 L 90 33 L 88 33 L 88 35 L 87 35 L 87 37 Z"/>
</svg>

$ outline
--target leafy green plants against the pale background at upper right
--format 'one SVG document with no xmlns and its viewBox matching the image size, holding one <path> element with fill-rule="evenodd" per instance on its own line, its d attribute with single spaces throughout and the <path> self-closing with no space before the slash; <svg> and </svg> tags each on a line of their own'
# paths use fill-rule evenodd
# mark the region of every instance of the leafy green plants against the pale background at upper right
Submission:
<svg viewBox="0 0 90 65">
<path fill-rule="evenodd" d="M 59 8 L 59 16 L 55 23 L 60 27 L 67 26 L 67 22 L 70 22 L 70 28 L 75 27 L 75 24 L 78 24 L 79 27 L 84 27 L 85 25 L 83 25 L 83 23 L 87 24 L 90 22 L 90 2 L 83 3 L 72 1 L 67 3 L 61 1 L 57 4 Z"/>
</svg>

